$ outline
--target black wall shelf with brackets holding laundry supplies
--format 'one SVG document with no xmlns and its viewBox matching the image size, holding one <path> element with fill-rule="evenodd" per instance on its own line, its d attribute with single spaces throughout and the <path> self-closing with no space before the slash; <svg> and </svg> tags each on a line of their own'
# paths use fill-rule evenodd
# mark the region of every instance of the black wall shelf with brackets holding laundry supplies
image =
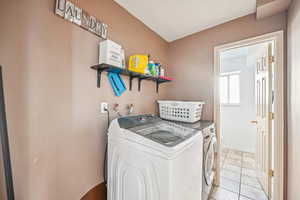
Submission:
<svg viewBox="0 0 300 200">
<path fill-rule="evenodd" d="M 119 67 L 115 67 L 107 64 L 94 65 L 91 67 L 94 70 L 97 70 L 97 87 L 101 87 L 101 75 L 102 72 L 114 72 L 118 74 L 122 74 L 129 77 L 129 90 L 132 90 L 132 80 L 138 79 L 138 90 L 141 91 L 141 82 L 142 80 L 151 80 L 156 82 L 156 92 L 158 93 L 159 85 L 162 83 L 170 82 L 171 80 L 163 79 L 159 77 L 149 76 L 145 74 L 140 74 L 136 72 L 129 71 L 128 69 L 122 69 Z"/>
</svg>

